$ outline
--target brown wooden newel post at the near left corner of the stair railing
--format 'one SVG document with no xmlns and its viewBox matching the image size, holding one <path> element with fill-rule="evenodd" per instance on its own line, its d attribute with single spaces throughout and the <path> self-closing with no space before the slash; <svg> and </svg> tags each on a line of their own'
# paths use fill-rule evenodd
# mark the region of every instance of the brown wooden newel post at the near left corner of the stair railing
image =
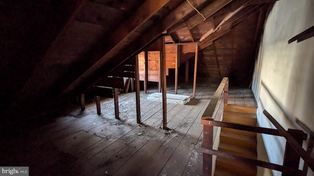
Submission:
<svg viewBox="0 0 314 176">
<path fill-rule="evenodd" d="M 213 145 L 213 126 L 204 125 L 203 145 L 202 147 L 212 149 Z M 212 172 L 212 155 L 203 154 L 203 176 L 211 176 Z"/>
</svg>

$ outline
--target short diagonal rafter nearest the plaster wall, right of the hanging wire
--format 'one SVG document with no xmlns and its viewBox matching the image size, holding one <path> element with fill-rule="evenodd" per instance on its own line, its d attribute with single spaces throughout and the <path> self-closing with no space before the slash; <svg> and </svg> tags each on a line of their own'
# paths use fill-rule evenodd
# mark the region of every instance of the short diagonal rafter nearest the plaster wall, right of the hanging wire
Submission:
<svg viewBox="0 0 314 176">
<path fill-rule="evenodd" d="M 211 45 L 214 40 L 230 32 L 231 28 L 233 28 L 238 23 L 243 22 L 248 17 L 251 17 L 252 15 L 259 12 L 265 5 L 266 4 L 257 5 L 254 8 L 250 8 L 245 14 L 238 14 L 239 17 L 235 16 L 234 18 L 232 18 L 230 22 L 222 25 L 219 29 L 211 33 L 206 39 L 200 42 L 199 49 L 202 50 Z"/>
</svg>

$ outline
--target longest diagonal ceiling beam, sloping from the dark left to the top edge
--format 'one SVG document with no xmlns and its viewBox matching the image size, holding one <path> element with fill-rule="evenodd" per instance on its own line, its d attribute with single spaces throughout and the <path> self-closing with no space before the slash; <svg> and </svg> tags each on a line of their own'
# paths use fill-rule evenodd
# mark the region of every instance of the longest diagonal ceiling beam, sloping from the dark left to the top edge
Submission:
<svg viewBox="0 0 314 176">
<path fill-rule="evenodd" d="M 156 0 L 155 0 L 156 1 Z M 198 4 L 201 5 L 206 0 L 198 0 Z M 192 2 L 192 5 L 196 6 L 196 2 Z M 155 3 L 153 3 L 155 4 Z M 146 9 L 147 10 L 147 9 Z M 154 27 L 148 30 L 141 37 L 138 37 L 133 44 L 130 44 L 127 49 L 123 52 L 119 52 L 117 55 L 112 57 L 102 57 L 98 62 L 91 66 L 87 71 L 85 71 L 77 80 L 75 80 L 71 85 L 68 86 L 59 95 L 67 96 L 70 94 L 77 94 L 82 92 L 89 86 L 93 85 L 99 79 L 101 79 L 105 74 L 114 70 L 117 66 L 121 65 L 124 61 L 128 60 L 131 56 L 140 52 L 147 44 L 151 43 L 154 39 L 162 34 L 163 31 L 169 29 L 172 25 L 179 22 L 183 17 L 188 15 L 194 10 L 187 1 L 184 1 L 179 7 L 173 10 L 164 19 L 156 22 Z"/>
</svg>

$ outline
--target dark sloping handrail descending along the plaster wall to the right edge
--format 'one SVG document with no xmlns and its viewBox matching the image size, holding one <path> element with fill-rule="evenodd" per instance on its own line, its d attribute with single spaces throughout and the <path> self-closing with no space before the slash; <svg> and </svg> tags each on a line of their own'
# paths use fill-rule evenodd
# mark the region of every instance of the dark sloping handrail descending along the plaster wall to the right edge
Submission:
<svg viewBox="0 0 314 176">
<path fill-rule="evenodd" d="M 269 121 L 278 129 L 280 133 L 287 139 L 287 142 L 294 149 L 294 151 L 301 156 L 309 167 L 314 171 L 314 159 L 298 144 L 298 142 L 289 134 L 267 110 L 263 110 L 263 114 L 269 119 Z"/>
</svg>

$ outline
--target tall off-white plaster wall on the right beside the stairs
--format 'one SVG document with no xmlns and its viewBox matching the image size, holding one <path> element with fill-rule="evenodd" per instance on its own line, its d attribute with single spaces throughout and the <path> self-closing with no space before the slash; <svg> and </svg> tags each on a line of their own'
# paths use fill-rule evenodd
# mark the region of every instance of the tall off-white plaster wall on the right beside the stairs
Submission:
<svg viewBox="0 0 314 176">
<path fill-rule="evenodd" d="M 275 128 L 263 115 L 265 109 L 286 130 L 299 129 L 297 117 L 314 131 L 314 37 L 288 44 L 290 38 L 313 25 L 314 0 L 279 0 L 270 12 L 252 84 L 261 127 Z M 286 140 L 262 137 L 269 161 L 283 164 Z M 273 174 L 281 176 L 279 172 Z"/>
</svg>

